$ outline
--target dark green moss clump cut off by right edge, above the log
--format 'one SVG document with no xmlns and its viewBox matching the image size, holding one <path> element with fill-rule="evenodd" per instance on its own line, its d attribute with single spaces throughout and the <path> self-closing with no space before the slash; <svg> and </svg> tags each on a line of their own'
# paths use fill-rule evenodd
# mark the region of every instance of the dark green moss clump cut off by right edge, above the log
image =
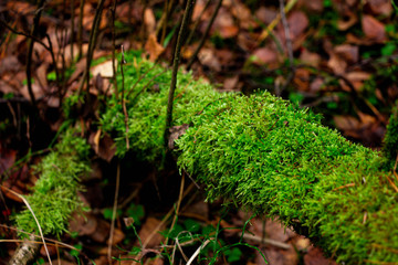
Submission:
<svg viewBox="0 0 398 265">
<path fill-rule="evenodd" d="M 384 139 L 383 152 L 388 159 L 389 169 L 391 169 L 398 155 L 398 102 L 392 108 L 392 113 L 387 125 L 387 132 Z"/>
</svg>

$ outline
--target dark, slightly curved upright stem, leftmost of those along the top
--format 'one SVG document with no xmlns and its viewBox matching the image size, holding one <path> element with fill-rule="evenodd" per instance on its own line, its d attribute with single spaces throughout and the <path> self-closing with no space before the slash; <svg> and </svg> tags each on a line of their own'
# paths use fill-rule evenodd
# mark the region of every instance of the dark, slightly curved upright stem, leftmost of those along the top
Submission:
<svg viewBox="0 0 398 265">
<path fill-rule="evenodd" d="M 45 0 L 40 0 L 38 3 L 38 10 L 34 13 L 34 18 L 33 18 L 33 26 L 31 30 L 31 35 L 35 36 L 38 34 L 38 29 L 39 29 L 39 22 L 40 22 L 40 17 L 41 13 L 43 11 L 43 7 L 44 7 Z M 28 41 L 28 56 L 27 56 L 27 84 L 28 84 L 28 92 L 29 92 L 29 96 L 31 98 L 32 105 L 34 107 L 36 107 L 36 103 L 35 103 L 35 98 L 34 98 L 34 94 L 33 94 L 33 89 L 32 89 L 32 53 L 33 53 L 33 44 L 34 44 L 34 40 L 33 39 L 29 39 Z"/>
</svg>

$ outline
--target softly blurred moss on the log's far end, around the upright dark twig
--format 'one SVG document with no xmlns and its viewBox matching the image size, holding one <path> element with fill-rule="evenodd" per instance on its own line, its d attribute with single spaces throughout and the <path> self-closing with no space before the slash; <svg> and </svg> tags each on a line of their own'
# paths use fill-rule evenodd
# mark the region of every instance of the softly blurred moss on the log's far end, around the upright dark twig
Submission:
<svg viewBox="0 0 398 265">
<path fill-rule="evenodd" d="M 166 107 L 171 71 L 143 61 L 138 54 L 126 53 L 125 73 L 126 108 L 128 112 L 129 146 L 138 157 L 155 161 L 164 151 Z M 137 81 L 142 77 L 139 83 Z M 122 87 L 122 76 L 117 76 Z M 133 89 L 134 88 L 134 89 Z M 193 81 L 188 74 L 178 73 L 174 107 L 174 125 L 189 124 L 191 117 L 210 102 L 222 97 L 201 81 Z M 126 153 L 126 127 L 121 100 L 108 98 L 101 118 L 101 127 L 116 140 L 116 155 Z"/>
</svg>

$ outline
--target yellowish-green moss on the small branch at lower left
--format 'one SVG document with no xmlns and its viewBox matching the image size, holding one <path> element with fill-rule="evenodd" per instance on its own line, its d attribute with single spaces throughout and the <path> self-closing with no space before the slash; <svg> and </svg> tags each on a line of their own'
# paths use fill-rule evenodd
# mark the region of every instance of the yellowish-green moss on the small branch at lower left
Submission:
<svg viewBox="0 0 398 265">
<path fill-rule="evenodd" d="M 27 195 L 43 234 L 60 235 L 66 231 L 72 213 L 82 208 L 76 192 L 81 189 L 78 177 L 88 171 L 90 146 L 84 139 L 67 130 L 62 140 L 35 167 L 40 174 L 33 193 Z M 25 209 L 17 215 L 19 229 L 39 233 L 32 213 Z M 25 236 L 24 234 L 21 234 Z"/>
</svg>

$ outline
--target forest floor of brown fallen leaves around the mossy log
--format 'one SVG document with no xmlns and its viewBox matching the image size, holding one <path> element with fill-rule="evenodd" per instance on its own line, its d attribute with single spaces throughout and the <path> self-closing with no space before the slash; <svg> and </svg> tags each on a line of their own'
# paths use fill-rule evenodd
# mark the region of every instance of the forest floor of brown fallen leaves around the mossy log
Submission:
<svg viewBox="0 0 398 265">
<path fill-rule="evenodd" d="M 172 7 L 163 20 L 165 3 L 170 2 Z M 171 65 L 184 2 L 117 1 L 114 30 L 113 1 L 104 2 L 93 53 L 95 65 L 91 67 L 90 93 L 95 104 L 78 113 L 82 125 L 92 128 L 103 107 L 101 98 L 112 91 L 111 56 L 114 50 L 121 52 L 122 46 L 126 51 L 142 50 L 148 60 Z M 255 89 L 271 91 L 301 107 L 323 114 L 324 124 L 341 130 L 349 140 L 379 149 L 390 109 L 398 98 L 398 25 L 390 1 L 291 0 L 284 3 L 282 13 L 283 1 L 262 2 L 222 1 L 206 36 L 218 1 L 197 0 L 181 52 L 181 66 L 189 64 L 205 38 L 191 64 L 196 77 L 207 80 L 223 92 L 250 94 Z M 96 0 L 85 0 L 83 4 L 73 0 L 49 1 L 41 9 L 31 62 L 31 86 L 35 98 L 32 104 L 27 84 L 30 38 L 25 35 L 32 34 L 38 8 L 30 1 L 1 1 L 2 192 L 8 188 L 28 194 L 38 180 L 32 166 L 49 152 L 49 146 L 56 139 L 56 132 L 65 120 L 60 103 L 80 91 L 96 9 Z M 56 65 L 44 47 L 50 43 Z M 92 172 L 82 180 L 85 191 L 80 194 L 91 210 L 85 218 L 76 215 L 70 232 L 57 239 L 74 250 L 50 245 L 54 263 L 108 264 L 107 241 L 117 159 L 114 158 L 112 139 L 103 138 L 98 144 L 95 134 L 95 130 L 86 131 L 94 155 Z M 111 253 L 114 264 L 132 264 L 136 257 L 134 251 L 139 246 L 138 239 L 148 241 L 146 248 L 140 250 L 146 254 L 144 264 L 169 264 L 174 256 L 175 264 L 177 261 L 185 264 L 185 255 L 189 258 L 198 245 L 185 248 L 186 254 L 181 254 L 178 244 L 167 245 L 161 235 L 170 229 L 171 219 L 168 218 L 172 216 L 174 205 L 179 201 L 180 177 L 177 170 L 159 171 L 140 162 L 134 153 L 124 158 L 122 165 L 125 173 L 121 177 L 118 218 Z M 322 250 L 289 227 L 281 226 L 277 220 L 252 218 L 244 210 L 223 206 L 221 200 L 207 203 L 203 192 L 195 189 L 180 201 L 175 233 L 200 234 L 222 227 L 220 244 L 232 245 L 240 240 L 242 227 L 250 220 L 243 240 L 255 248 L 231 247 L 217 264 L 265 264 L 262 253 L 272 265 L 335 264 L 333 257 L 324 257 Z M 23 203 L 7 192 L 0 199 L 0 264 L 7 264 L 17 248 L 11 241 L 19 239 L 13 220 Z M 126 222 L 132 220 L 135 229 L 127 229 Z M 167 250 L 163 254 L 167 253 L 169 258 L 157 257 L 161 250 Z M 46 262 L 42 250 L 36 264 Z M 203 258 L 199 264 L 208 262 Z"/>
</svg>

